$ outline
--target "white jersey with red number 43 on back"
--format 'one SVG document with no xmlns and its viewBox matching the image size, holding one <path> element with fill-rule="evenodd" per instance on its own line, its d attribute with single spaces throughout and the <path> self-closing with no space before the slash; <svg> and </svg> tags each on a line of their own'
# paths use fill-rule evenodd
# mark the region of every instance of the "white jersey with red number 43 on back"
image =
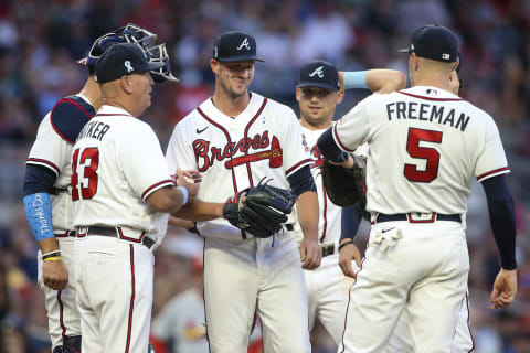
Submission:
<svg viewBox="0 0 530 353">
<path fill-rule="evenodd" d="M 126 110 L 103 106 L 80 132 L 72 154 L 74 226 L 128 227 L 160 244 L 167 213 L 146 203 L 174 185 L 151 127 Z"/>
</svg>

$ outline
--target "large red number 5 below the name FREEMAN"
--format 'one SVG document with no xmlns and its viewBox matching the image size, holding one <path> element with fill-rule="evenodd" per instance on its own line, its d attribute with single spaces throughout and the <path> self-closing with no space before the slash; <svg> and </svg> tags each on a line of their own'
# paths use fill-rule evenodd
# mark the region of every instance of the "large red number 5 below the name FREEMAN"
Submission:
<svg viewBox="0 0 530 353">
<path fill-rule="evenodd" d="M 412 158 L 425 159 L 426 165 L 425 170 L 417 170 L 416 164 L 405 164 L 404 174 L 409 181 L 430 183 L 438 175 L 439 152 L 431 147 L 420 147 L 421 141 L 441 143 L 442 132 L 416 128 L 409 129 L 406 151 Z"/>
</svg>

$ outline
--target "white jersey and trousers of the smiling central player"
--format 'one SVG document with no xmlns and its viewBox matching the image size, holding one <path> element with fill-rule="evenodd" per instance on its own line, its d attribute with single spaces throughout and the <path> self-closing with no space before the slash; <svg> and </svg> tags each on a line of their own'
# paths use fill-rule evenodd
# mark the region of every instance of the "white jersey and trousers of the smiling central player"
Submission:
<svg viewBox="0 0 530 353">
<path fill-rule="evenodd" d="M 255 93 L 234 118 L 211 99 L 203 101 L 174 128 L 167 159 L 171 170 L 198 169 L 203 174 L 198 199 L 216 203 L 264 178 L 289 189 L 287 176 L 311 163 L 293 109 Z M 221 218 L 199 222 L 198 228 L 205 236 L 210 350 L 246 352 L 257 312 L 266 352 L 310 352 L 307 327 L 300 324 L 308 320 L 307 293 L 294 233 L 286 227 L 275 237 L 255 238 Z"/>
</svg>

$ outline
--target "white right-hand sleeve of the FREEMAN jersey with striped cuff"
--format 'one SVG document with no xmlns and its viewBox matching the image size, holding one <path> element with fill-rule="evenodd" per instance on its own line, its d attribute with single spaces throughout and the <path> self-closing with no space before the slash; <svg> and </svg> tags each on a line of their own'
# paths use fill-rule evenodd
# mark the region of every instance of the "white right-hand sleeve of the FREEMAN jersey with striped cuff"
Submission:
<svg viewBox="0 0 530 353">
<path fill-rule="evenodd" d="M 499 130 L 492 119 L 485 126 L 484 146 L 479 151 L 475 176 L 479 182 L 509 172 L 505 149 L 500 140 Z"/>
</svg>

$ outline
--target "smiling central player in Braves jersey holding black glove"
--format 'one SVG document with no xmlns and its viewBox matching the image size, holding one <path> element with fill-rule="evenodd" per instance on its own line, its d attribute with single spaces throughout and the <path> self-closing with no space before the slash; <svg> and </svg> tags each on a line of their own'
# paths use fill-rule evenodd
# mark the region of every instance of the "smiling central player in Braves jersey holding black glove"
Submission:
<svg viewBox="0 0 530 353">
<path fill-rule="evenodd" d="M 178 216 L 200 221 L 204 236 L 204 303 L 212 352 L 246 352 L 257 314 L 265 352 L 310 352 L 307 295 L 300 268 L 320 264 L 317 243 L 318 201 L 294 111 L 248 92 L 254 76 L 256 41 L 246 33 L 221 34 L 210 66 L 213 97 L 174 128 L 167 160 L 170 168 L 198 169 L 198 201 Z M 268 238 L 242 232 L 223 218 L 233 194 L 269 184 L 292 189 L 304 240 L 298 248 L 293 218 Z M 200 200 L 200 201 L 199 201 Z"/>
</svg>

